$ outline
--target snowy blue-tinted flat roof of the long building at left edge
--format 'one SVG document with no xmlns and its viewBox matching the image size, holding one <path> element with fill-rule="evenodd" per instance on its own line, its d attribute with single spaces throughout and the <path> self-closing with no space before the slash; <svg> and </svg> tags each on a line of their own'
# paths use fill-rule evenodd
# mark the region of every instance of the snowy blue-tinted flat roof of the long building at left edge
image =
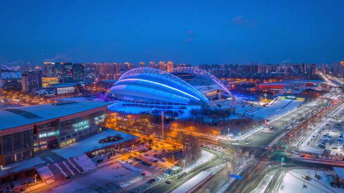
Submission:
<svg viewBox="0 0 344 193">
<path fill-rule="evenodd" d="M 61 105 L 43 104 L 2 109 L 0 110 L 0 130 L 56 119 L 109 104 L 111 103 L 83 100 L 72 101 Z"/>
</svg>

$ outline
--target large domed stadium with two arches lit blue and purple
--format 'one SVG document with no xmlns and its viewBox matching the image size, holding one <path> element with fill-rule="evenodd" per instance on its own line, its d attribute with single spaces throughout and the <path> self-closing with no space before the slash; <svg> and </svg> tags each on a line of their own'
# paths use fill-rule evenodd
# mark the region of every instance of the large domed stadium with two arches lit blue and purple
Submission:
<svg viewBox="0 0 344 193">
<path fill-rule="evenodd" d="M 109 96 L 123 106 L 148 108 L 210 107 L 214 100 L 235 100 L 216 77 L 191 67 L 168 73 L 136 68 L 124 73 L 110 89 Z"/>
</svg>

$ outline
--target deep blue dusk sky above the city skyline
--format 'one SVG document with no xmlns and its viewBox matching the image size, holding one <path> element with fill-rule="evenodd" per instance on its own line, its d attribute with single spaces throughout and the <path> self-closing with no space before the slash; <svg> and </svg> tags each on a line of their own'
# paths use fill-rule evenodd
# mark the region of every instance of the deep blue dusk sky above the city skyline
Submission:
<svg viewBox="0 0 344 193">
<path fill-rule="evenodd" d="M 332 63 L 343 36 L 344 1 L 0 3 L 3 64 Z"/>
</svg>

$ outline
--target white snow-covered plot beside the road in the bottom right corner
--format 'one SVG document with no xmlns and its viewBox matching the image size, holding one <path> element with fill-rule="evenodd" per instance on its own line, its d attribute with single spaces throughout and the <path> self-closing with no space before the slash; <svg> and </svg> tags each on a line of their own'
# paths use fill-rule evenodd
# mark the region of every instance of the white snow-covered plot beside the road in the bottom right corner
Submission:
<svg viewBox="0 0 344 193">
<path fill-rule="evenodd" d="M 315 173 L 320 178 L 315 178 Z M 308 175 L 310 180 L 305 180 Z M 311 169 L 292 169 L 286 173 L 279 186 L 279 193 L 329 193 L 344 192 L 344 188 L 336 188 L 330 185 L 330 180 L 334 177 L 334 172 L 316 171 Z"/>
</svg>

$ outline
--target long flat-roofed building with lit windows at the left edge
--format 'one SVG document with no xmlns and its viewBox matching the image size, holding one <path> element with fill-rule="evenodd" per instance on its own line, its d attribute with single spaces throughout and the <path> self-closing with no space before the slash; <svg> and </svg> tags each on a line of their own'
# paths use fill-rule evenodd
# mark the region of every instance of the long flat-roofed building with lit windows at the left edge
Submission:
<svg viewBox="0 0 344 193">
<path fill-rule="evenodd" d="M 109 104 L 79 100 L 0 110 L 0 165 L 102 132 Z"/>
</svg>

